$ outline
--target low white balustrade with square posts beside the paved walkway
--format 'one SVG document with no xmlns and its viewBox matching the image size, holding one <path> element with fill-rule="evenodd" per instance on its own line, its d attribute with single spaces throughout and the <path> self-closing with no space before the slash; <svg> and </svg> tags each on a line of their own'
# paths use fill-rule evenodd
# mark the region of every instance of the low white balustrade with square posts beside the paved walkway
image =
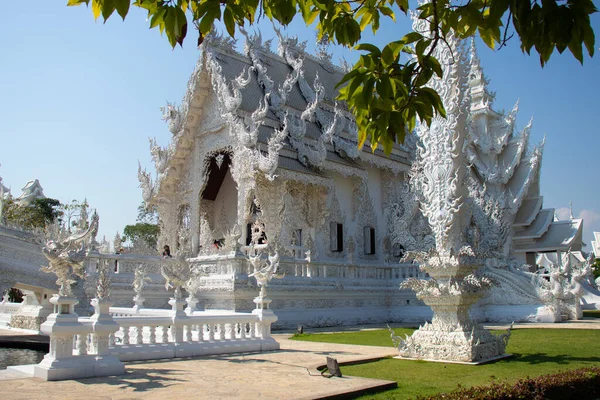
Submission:
<svg viewBox="0 0 600 400">
<path fill-rule="evenodd" d="M 96 313 L 89 318 L 73 313 L 74 298 L 54 296 L 50 302 L 54 313 L 42 324 L 50 351 L 34 368 L 34 375 L 45 380 L 122 374 L 122 361 L 279 349 L 271 337 L 277 316 L 264 307 L 268 302 L 251 313 L 186 315 L 185 301 L 171 299 L 172 310 L 144 309 L 115 318 L 106 300 L 92 300 Z"/>
</svg>

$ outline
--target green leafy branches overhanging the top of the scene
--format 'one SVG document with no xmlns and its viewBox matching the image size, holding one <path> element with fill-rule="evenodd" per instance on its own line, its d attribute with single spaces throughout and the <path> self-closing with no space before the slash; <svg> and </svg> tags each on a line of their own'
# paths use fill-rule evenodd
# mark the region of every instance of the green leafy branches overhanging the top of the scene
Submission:
<svg viewBox="0 0 600 400">
<path fill-rule="evenodd" d="M 106 21 L 115 11 L 124 19 L 131 5 L 148 12 L 150 28 L 165 33 L 171 46 L 182 45 L 188 25 L 199 32 L 198 43 L 215 21 L 223 21 L 229 35 L 236 27 L 266 16 L 288 25 L 300 15 L 315 24 L 319 39 L 344 46 L 360 42 L 361 33 L 379 29 L 381 18 L 395 20 L 408 14 L 408 0 L 68 0 L 68 5 L 92 3 L 94 18 Z M 361 43 L 365 51 L 342 80 L 340 91 L 356 117 L 359 144 L 369 140 L 375 149 L 391 151 L 396 138 L 414 128 L 417 117 L 431 123 L 445 115 L 439 95 L 426 87 L 442 69 L 433 50 L 444 45 L 450 31 L 461 38 L 479 34 L 491 48 L 501 47 L 516 34 L 523 52 L 539 55 L 542 66 L 557 50 L 566 49 L 583 63 L 583 48 L 594 54 L 595 36 L 590 15 L 592 0 L 431 0 L 417 8 L 426 32 L 399 34 L 382 49 Z"/>
</svg>

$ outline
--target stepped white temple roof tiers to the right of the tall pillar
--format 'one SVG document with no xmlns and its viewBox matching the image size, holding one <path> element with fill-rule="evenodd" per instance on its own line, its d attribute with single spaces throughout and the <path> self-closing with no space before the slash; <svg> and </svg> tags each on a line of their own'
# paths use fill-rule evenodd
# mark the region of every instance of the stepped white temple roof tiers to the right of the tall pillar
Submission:
<svg viewBox="0 0 600 400">
<path fill-rule="evenodd" d="M 542 208 L 539 180 L 545 139 L 528 148 L 532 121 L 516 132 L 518 103 L 506 115 L 493 109 L 494 94 L 474 42 L 470 53 L 471 132 L 464 150 L 474 182 L 505 209 L 514 252 L 580 250 L 582 221 L 554 221 L 554 209 Z"/>
</svg>

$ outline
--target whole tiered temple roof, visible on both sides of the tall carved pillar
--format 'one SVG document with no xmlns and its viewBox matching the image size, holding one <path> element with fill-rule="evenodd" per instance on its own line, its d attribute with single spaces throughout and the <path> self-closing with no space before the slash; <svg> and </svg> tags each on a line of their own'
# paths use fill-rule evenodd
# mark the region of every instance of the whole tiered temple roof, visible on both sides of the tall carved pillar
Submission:
<svg viewBox="0 0 600 400">
<path fill-rule="evenodd" d="M 146 201 L 161 192 L 168 196 L 182 179 L 196 137 L 223 127 L 228 127 L 234 151 L 255 159 L 255 169 L 270 179 L 283 170 L 315 177 L 324 170 L 360 175 L 365 164 L 393 172 L 408 170 L 414 145 L 396 145 L 388 157 L 380 150 L 373 153 L 368 145 L 357 150 L 354 118 L 343 102 L 335 101 L 335 86 L 345 71 L 326 53 L 310 55 L 297 39 L 281 35 L 275 52 L 271 41 L 263 41 L 260 34 L 244 34 L 243 52 L 231 39 L 218 35 L 204 41 L 182 104 L 169 104 L 165 113 L 173 133 L 171 144 L 160 148 L 153 142 L 158 176 L 156 184 L 145 185 Z M 474 46 L 467 69 L 470 131 L 465 162 L 481 191 L 507 210 L 513 232 L 508 240 L 514 251 L 580 246 L 581 221 L 552 221 L 553 209 L 542 208 L 544 141 L 529 148 L 531 122 L 516 131 L 518 104 L 506 115 L 493 109 L 494 94 L 488 90 Z M 211 98 L 216 98 L 221 114 L 200 126 Z M 140 179 L 151 183 L 141 169 Z"/>
</svg>

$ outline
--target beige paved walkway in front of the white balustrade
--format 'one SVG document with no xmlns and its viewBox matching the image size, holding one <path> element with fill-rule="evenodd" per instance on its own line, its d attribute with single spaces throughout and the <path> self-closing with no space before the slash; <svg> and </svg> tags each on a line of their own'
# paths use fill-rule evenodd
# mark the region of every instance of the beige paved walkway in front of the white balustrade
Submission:
<svg viewBox="0 0 600 400">
<path fill-rule="evenodd" d="M 367 329 L 375 328 L 380 327 Z M 514 328 L 600 329 L 600 319 L 515 324 Z M 361 329 L 365 328 L 350 327 L 343 331 Z M 0 330 L 0 337 L 14 333 Z M 117 377 L 44 382 L 0 371 L 0 393 L 10 393 L 11 400 L 315 399 L 395 384 L 357 377 L 324 378 L 316 370 L 325 364 L 326 356 L 344 363 L 394 356 L 394 348 L 294 341 L 289 336 L 274 335 L 281 344 L 281 351 L 277 352 L 126 363 L 127 373 Z"/>
</svg>

